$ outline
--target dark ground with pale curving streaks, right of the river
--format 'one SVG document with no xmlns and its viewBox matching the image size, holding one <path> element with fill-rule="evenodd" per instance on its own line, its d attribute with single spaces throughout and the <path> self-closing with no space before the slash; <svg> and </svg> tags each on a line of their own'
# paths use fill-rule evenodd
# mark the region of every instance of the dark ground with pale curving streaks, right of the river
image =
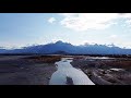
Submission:
<svg viewBox="0 0 131 98">
<path fill-rule="evenodd" d="M 71 63 L 83 70 L 96 85 L 131 85 L 131 60 L 78 58 Z"/>
</svg>

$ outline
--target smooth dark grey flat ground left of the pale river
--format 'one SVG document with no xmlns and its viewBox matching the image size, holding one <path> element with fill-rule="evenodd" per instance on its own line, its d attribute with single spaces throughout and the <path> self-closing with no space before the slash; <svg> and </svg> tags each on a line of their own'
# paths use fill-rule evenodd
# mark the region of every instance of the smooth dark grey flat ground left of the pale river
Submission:
<svg viewBox="0 0 131 98">
<path fill-rule="evenodd" d="M 47 57 L 32 59 L 27 56 L 5 56 L 0 58 L 0 85 L 48 85 L 57 70 Z M 52 58 L 51 58 L 52 59 Z"/>
</svg>

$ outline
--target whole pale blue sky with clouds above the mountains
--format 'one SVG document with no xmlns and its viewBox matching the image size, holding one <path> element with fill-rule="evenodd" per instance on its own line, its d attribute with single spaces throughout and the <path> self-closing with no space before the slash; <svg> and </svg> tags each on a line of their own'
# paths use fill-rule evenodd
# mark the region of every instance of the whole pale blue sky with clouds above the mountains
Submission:
<svg viewBox="0 0 131 98">
<path fill-rule="evenodd" d="M 0 47 L 62 40 L 72 45 L 115 44 L 131 48 L 131 14 L 0 13 Z"/>
</svg>

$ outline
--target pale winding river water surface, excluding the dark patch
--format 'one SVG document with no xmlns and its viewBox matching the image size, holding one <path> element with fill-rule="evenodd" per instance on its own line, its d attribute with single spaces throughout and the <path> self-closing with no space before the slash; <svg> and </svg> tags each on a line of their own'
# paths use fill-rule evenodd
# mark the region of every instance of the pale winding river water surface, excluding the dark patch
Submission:
<svg viewBox="0 0 131 98">
<path fill-rule="evenodd" d="M 74 85 L 95 85 L 86 74 L 70 64 L 71 59 L 62 58 L 55 63 L 58 70 L 52 74 L 49 85 L 67 85 L 67 77 L 70 77 Z"/>
</svg>

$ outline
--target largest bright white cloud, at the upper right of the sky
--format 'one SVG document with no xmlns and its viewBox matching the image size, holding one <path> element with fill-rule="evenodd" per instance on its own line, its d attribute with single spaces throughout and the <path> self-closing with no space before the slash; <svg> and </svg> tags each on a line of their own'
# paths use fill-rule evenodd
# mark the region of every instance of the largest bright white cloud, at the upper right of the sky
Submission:
<svg viewBox="0 0 131 98">
<path fill-rule="evenodd" d="M 62 13 L 60 15 L 63 16 L 60 24 L 76 32 L 105 29 L 117 24 L 115 23 L 117 19 L 127 19 L 131 23 L 130 13 Z"/>
</svg>

